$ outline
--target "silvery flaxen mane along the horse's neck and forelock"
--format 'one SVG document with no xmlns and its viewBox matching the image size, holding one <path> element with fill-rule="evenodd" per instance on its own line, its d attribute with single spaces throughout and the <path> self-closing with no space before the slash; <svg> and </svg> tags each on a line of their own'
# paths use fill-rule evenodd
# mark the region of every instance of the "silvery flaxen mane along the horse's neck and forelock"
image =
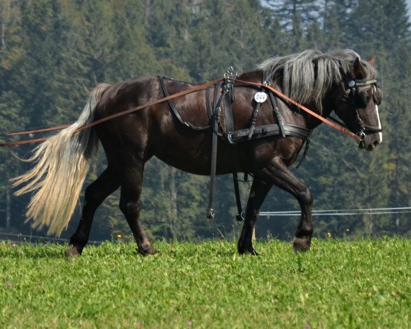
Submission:
<svg viewBox="0 0 411 329">
<path fill-rule="evenodd" d="M 321 100 L 333 84 L 343 84 L 353 61 L 360 58 L 355 51 L 344 49 L 323 53 L 307 50 L 302 53 L 270 58 L 258 69 L 271 71 L 271 77 L 282 77 L 284 93 L 303 104 L 314 103 L 321 110 Z M 368 79 L 375 79 L 373 66 L 362 60 Z"/>
</svg>

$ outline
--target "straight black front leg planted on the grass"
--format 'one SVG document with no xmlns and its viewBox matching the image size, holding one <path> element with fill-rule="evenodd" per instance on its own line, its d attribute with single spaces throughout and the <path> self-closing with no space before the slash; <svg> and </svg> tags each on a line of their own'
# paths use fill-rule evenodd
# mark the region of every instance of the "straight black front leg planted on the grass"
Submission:
<svg viewBox="0 0 411 329">
<path fill-rule="evenodd" d="M 266 184 L 255 178 L 251 185 L 251 191 L 247 202 L 247 208 L 245 210 L 245 219 L 242 226 L 240 239 L 238 240 L 237 249 L 240 254 L 252 254 L 258 255 L 253 248 L 253 230 L 256 226 L 258 212 L 264 202 L 264 199 L 269 193 L 271 184 Z"/>
</svg>

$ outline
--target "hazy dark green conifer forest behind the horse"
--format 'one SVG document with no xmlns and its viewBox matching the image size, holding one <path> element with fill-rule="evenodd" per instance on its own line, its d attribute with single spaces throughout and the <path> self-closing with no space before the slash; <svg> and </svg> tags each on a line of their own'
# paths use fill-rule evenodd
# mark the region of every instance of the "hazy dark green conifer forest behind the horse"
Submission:
<svg viewBox="0 0 411 329">
<path fill-rule="evenodd" d="M 408 208 L 411 193 L 411 42 L 403 0 L 0 0 L 0 132 L 73 123 L 90 90 L 139 75 L 208 82 L 228 66 L 254 69 L 271 56 L 306 49 L 354 49 L 377 57 L 384 142 L 360 151 L 321 125 L 296 171 L 314 195 L 314 210 Z M 33 145 L 32 145 L 33 146 Z M 14 197 L 32 146 L 0 149 L 0 233 L 42 235 L 25 223 L 29 196 Z M 176 154 L 176 156 L 178 156 Z M 105 167 L 105 156 L 86 184 Z M 216 219 L 205 218 L 209 178 L 152 159 L 145 169 L 142 222 L 151 238 L 232 239 L 240 226 L 232 178 L 219 176 Z M 243 204 L 249 184 L 242 184 Z M 119 191 L 97 211 L 90 239 L 131 239 Z M 80 202 L 62 238 L 73 234 Z M 273 188 L 262 211 L 299 210 Z M 402 234 L 409 210 L 314 216 L 314 236 Z M 386 212 L 386 211 L 379 211 Z M 299 217 L 263 217 L 257 236 L 290 239 Z M 1 238 L 1 234 L 0 234 Z"/>
</svg>

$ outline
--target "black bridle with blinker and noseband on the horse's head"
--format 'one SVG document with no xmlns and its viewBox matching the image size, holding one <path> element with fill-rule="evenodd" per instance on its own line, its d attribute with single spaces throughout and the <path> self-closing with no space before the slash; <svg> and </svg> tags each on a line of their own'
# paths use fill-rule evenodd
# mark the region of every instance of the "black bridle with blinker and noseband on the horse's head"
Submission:
<svg viewBox="0 0 411 329">
<path fill-rule="evenodd" d="M 347 88 L 345 89 L 347 98 L 351 101 L 353 106 L 356 107 L 356 121 L 358 123 L 358 126 L 360 127 L 360 130 L 358 130 L 356 134 L 362 138 L 362 141 L 364 141 L 364 138 L 367 134 L 375 134 L 377 132 L 382 132 L 382 128 L 374 127 L 372 125 L 364 125 L 362 123 L 362 120 L 360 119 L 358 108 L 366 108 L 366 95 L 364 94 L 364 92 L 368 89 L 362 90 L 361 92 L 359 92 L 358 89 L 360 87 L 366 86 L 371 86 L 373 93 L 373 101 L 375 103 L 375 106 L 377 106 L 378 101 L 375 95 L 377 92 L 377 80 L 349 80 L 347 82 Z"/>
</svg>

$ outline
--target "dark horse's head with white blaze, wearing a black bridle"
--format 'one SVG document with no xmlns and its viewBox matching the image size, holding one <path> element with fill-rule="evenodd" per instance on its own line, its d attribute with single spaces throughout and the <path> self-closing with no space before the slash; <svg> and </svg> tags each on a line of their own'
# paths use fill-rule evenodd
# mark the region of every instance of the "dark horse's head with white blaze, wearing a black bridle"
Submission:
<svg viewBox="0 0 411 329">
<path fill-rule="evenodd" d="M 367 62 L 356 58 L 346 76 L 343 97 L 338 97 L 334 111 L 351 132 L 362 138 L 358 147 L 372 151 L 382 143 L 378 106 L 382 100 L 374 69 L 375 58 Z"/>
</svg>

